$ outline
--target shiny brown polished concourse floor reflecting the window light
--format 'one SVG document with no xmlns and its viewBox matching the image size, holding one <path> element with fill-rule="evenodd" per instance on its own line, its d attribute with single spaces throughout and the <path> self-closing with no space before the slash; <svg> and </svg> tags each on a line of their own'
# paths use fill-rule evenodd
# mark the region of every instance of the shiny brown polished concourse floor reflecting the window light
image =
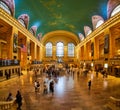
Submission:
<svg viewBox="0 0 120 110">
<path fill-rule="evenodd" d="M 62 73 L 55 83 L 54 95 L 43 95 L 43 80 L 45 75 L 37 79 L 41 83 L 40 92 L 34 90 L 34 73 L 23 71 L 24 75 L 0 82 L 0 100 L 12 92 L 15 97 L 17 90 L 23 96 L 22 110 L 109 110 L 106 104 L 109 97 L 120 98 L 120 78 L 109 76 L 103 78 L 95 73 L 68 75 Z M 92 80 L 91 90 L 88 80 Z M 16 110 L 15 108 L 13 110 Z"/>
</svg>

